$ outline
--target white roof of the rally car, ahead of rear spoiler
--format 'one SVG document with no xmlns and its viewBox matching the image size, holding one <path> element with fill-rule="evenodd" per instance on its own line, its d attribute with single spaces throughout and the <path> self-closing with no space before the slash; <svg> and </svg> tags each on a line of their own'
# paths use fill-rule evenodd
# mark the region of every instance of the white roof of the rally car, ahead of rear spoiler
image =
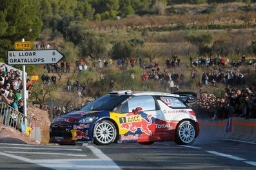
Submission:
<svg viewBox="0 0 256 170">
<path fill-rule="evenodd" d="M 165 96 L 173 96 L 179 97 L 179 95 L 175 95 L 172 93 L 158 92 L 158 91 L 132 91 L 132 90 L 117 90 L 108 93 L 110 95 L 165 95 Z"/>
</svg>

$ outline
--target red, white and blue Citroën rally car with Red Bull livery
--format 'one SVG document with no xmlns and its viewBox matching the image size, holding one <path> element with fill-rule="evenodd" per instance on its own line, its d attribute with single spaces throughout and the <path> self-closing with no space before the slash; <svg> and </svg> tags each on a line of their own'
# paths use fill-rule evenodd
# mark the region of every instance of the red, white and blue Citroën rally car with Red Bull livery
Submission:
<svg viewBox="0 0 256 170">
<path fill-rule="evenodd" d="M 112 91 L 79 111 L 55 117 L 50 142 L 97 145 L 175 141 L 190 145 L 199 135 L 199 123 L 188 103 L 196 93 Z"/>
</svg>

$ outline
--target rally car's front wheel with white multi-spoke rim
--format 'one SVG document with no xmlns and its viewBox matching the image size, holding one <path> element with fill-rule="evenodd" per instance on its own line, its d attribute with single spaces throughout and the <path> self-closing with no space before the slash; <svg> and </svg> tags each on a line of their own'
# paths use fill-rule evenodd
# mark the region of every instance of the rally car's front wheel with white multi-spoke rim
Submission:
<svg viewBox="0 0 256 170">
<path fill-rule="evenodd" d="M 110 120 L 101 120 L 94 127 L 94 144 L 106 146 L 117 137 L 117 129 Z"/>
</svg>

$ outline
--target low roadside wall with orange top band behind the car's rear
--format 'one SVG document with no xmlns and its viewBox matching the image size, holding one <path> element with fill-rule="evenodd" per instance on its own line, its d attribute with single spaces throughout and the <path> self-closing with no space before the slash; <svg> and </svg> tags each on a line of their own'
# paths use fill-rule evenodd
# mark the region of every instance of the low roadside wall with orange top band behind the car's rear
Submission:
<svg viewBox="0 0 256 170">
<path fill-rule="evenodd" d="M 231 118 L 231 131 L 226 131 L 226 120 L 199 120 L 200 134 L 209 138 L 225 138 L 256 143 L 256 118 Z"/>
</svg>

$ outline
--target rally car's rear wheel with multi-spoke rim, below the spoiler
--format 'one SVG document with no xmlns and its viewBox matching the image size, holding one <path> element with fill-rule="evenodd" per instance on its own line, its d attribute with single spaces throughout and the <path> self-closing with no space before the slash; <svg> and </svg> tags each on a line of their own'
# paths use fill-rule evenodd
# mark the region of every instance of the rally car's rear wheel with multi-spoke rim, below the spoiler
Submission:
<svg viewBox="0 0 256 170">
<path fill-rule="evenodd" d="M 182 121 L 175 131 L 175 143 L 191 145 L 195 141 L 195 124 L 190 120 Z"/>
</svg>

